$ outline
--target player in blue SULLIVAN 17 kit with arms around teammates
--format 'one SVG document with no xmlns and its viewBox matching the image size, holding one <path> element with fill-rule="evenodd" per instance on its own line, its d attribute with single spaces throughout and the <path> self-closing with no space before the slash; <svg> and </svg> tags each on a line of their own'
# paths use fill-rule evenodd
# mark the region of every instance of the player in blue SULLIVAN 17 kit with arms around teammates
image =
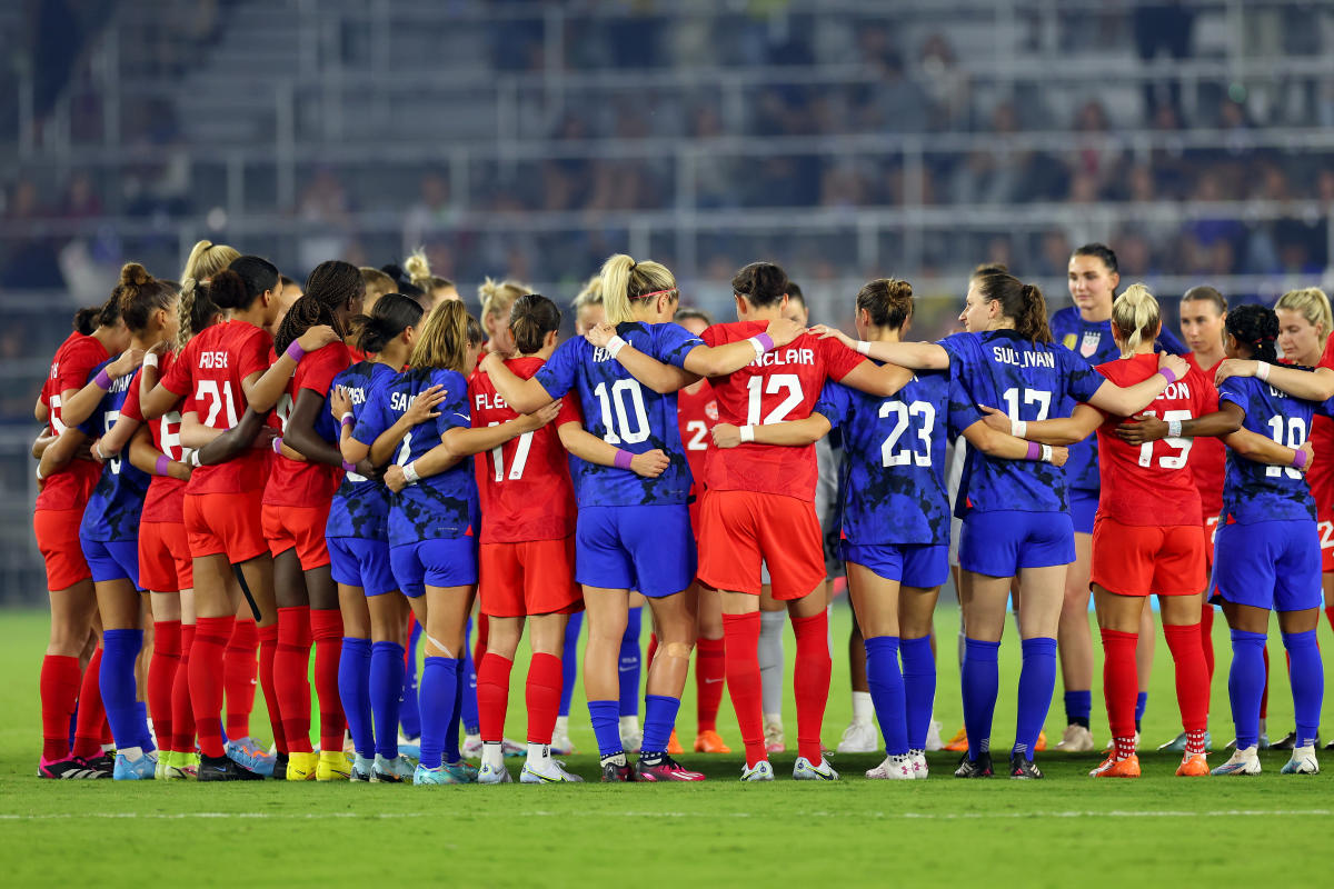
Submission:
<svg viewBox="0 0 1334 889">
<path fill-rule="evenodd" d="M 1162 356 L 1163 369 L 1123 389 L 1082 359 L 1051 343 L 1046 301 L 1011 275 L 974 279 L 959 316 L 967 328 L 940 343 L 871 344 L 876 360 L 916 369 L 952 367 L 974 404 L 1003 407 L 1011 420 L 1069 416 L 1077 401 L 1130 416 L 1143 409 L 1187 364 Z M 1017 432 L 1023 428 L 1018 427 Z M 968 752 L 956 777 L 990 777 L 991 718 L 1006 602 L 1018 576 L 1023 668 L 1010 777 L 1041 778 L 1033 761 L 1055 684 L 1057 640 L 1066 566 L 1074 561 L 1065 473 L 1046 464 L 998 461 L 970 450 L 964 469 L 959 544 L 960 604 L 968 637 L 963 662 L 963 714 Z"/>
</svg>

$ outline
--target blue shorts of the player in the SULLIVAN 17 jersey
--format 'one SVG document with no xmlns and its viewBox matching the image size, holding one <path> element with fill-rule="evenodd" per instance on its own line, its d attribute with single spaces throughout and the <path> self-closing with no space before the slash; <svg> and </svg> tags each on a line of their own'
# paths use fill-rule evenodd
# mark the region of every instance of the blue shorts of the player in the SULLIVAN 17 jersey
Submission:
<svg viewBox="0 0 1334 889">
<path fill-rule="evenodd" d="M 1075 560 L 1070 516 L 1063 512 L 970 512 L 963 518 L 959 568 L 988 577 L 1014 577 L 1022 568 L 1069 565 Z"/>
</svg>

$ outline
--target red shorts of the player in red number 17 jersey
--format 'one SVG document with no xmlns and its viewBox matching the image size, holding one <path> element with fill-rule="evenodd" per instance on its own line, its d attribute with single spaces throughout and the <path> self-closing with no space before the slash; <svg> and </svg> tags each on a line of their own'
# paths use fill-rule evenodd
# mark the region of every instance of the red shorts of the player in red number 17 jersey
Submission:
<svg viewBox="0 0 1334 889">
<path fill-rule="evenodd" d="M 575 582 L 575 538 L 482 544 L 478 598 L 490 617 L 572 614 L 583 610 Z"/>
</svg>

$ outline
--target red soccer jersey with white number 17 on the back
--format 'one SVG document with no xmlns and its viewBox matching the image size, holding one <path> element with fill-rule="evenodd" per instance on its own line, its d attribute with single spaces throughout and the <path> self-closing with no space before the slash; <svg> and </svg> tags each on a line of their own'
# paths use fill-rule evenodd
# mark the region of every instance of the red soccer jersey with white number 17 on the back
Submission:
<svg viewBox="0 0 1334 889">
<path fill-rule="evenodd" d="M 526 357 L 504 364 L 520 380 L 528 380 L 544 363 Z M 468 404 L 474 429 L 519 416 L 480 371 L 468 379 Z M 560 401 L 560 413 L 552 423 L 476 456 L 483 544 L 562 540 L 575 533 L 575 488 L 556 432 L 566 423 L 583 423 L 571 396 Z"/>
</svg>

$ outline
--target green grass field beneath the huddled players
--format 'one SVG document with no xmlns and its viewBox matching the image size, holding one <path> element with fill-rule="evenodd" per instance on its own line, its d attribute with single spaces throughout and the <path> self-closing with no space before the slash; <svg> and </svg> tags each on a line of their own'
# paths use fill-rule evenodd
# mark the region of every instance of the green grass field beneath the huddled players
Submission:
<svg viewBox="0 0 1334 889">
<path fill-rule="evenodd" d="M 848 629 L 835 608 L 834 690 L 824 722 L 832 746 L 847 724 Z M 958 612 L 938 616 L 938 717 L 960 722 L 954 638 Z M 1007 628 L 1007 633 L 1013 626 Z M 1226 629 L 1215 628 L 1226 664 Z M 1039 756 L 1037 782 L 958 781 L 954 754 L 931 754 L 928 781 L 866 781 L 879 756 L 839 756 L 838 784 L 790 780 L 795 754 L 775 758 L 779 780 L 740 785 L 742 758 L 686 756 L 708 773 L 698 785 L 412 788 L 395 785 L 39 781 L 37 670 L 47 617 L 5 612 L 0 620 L 0 882 L 19 885 L 1125 885 L 1185 886 L 1279 881 L 1321 885 L 1331 848 L 1329 774 L 1281 776 L 1286 754 L 1262 753 L 1254 778 L 1173 777 L 1177 757 L 1149 753 L 1139 781 L 1094 781 L 1097 754 Z M 1327 629 L 1325 650 L 1329 646 Z M 1275 634 L 1277 637 L 1277 634 Z M 1097 636 L 1095 636 L 1097 638 Z M 792 652 L 788 637 L 788 656 Z M 1281 649 L 1269 725 L 1291 725 Z M 520 657 L 522 660 L 522 657 Z M 523 737 L 522 677 L 515 668 L 508 734 Z M 992 746 L 1009 748 L 1014 726 L 1018 645 L 1002 648 L 1002 693 Z M 790 678 L 790 673 L 788 673 Z M 1215 746 L 1231 737 L 1226 669 L 1214 681 Z M 694 681 L 682 708 L 682 740 L 694 737 Z M 1054 742 L 1063 718 L 1047 720 Z M 788 692 L 788 698 L 791 693 Z M 730 704 L 719 729 L 739 749 Z M 786 714 L 790 740 L 795 713 Z M 594 749 L 583 698 L 572 710 L 575 744 Z M 256 708 L 256 733 L 264 725 Z M 1106 736 L 1101 689 L 1094 725 Z M 1179 730 L 1173 672 L 1159 637 L 1145 718 L 1146 745 Z M 1221 762 L 1214 753 L 1211 762 Z M 1330 762 L 1334 762 L 1331 760 Z M 596 757 L 570 766 L 592 778 Z M 511 769 L 518 774 L 518 766 Z"/>
</svg>

